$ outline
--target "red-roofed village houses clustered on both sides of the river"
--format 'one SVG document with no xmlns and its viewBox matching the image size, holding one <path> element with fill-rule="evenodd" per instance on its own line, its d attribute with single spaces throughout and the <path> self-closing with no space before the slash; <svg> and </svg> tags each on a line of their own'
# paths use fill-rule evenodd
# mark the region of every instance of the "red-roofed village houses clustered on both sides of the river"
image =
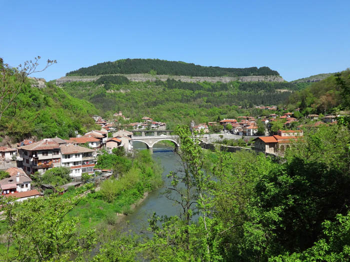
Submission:
<svg viewBox="0 0 350 262">
<path fill-rule="evenodd" d="M 222 119 L 197 125 L 192 121 L 190 128 L 192 131 L 203 134 L 219 132 L 246 138 L 251 137 L 250 142 L 255 151 L 283 156 L 290 143 L 302 139 L 303 127 L 335 124 L 337 118 L 336 115 L 320 117 L 316 114 L 309 114 L 303 119 L 308 123 L 297 124 L 301 119 L 293 117 L 294 113 L 277 114 L 286 108 L 282 108 L 282 111 L 278 111 L 276 106 L 256 108 L 270 110 L 273 113 L 256 118 L 239 116 L 237 119 Z M 294 110 L 294 112 L 297 111 L 298 108 Z M 44 189 L 52 188 L 52 186 L 41 185 L 41 187 L 33 189 L 31 176 L 34 174 L 42 175 L 55 167 L 66 167 L 70 170 L 69 177 L 72 181 L 61 187 L 63 192 L 69 186 L 80 186 L 84 173 L 92 175 L 95 172 L 105 172 L 106 174 L 110 172 L 110 170 L 95 168 L 97 157 L 103 150 L 111 153 L 114 148 L 122 148 L 125 152 L 132 152 L 132 132 L 127 130 L 166 130 L 166 123 L 153 121 L 147 116 L 141 118 L 143 122 L 125 124 L 123 128 L 127 130 L 118 130 L 121 127 L 118 124 L 120 119 L 129 120 L 120 111 L 114 113 L 113 119 L 109 121 L 100 116 L 93 116 L 93 119 L 100 126 L 100 130 L 92 130 L 84 135 L 69 139 L 58 137 L 44 138 L 39 141 L 26 139 L 17 143 L 16 147 L 0 147 L 0 162 L 3 163 L 0 165 L 0 169 L 9 174 L 9 177 L 0 180 L 1 194 L 16 197 L 18 201 L 42 196 Z M 277 121 L 282 123 L 282 128 L 273 132 L 271 127 Z M 290 130 L 291 126 L 295 129 Z"/>
</svg>

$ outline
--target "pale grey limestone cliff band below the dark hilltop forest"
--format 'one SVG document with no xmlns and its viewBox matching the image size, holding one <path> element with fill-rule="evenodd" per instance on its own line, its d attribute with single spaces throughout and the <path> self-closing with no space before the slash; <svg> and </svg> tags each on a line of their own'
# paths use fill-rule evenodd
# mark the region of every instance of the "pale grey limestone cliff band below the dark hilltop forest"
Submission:
<svg viewBox="0 0 350 262">
<path fill-rule="evenodd" d="M 61 85 L 66 82 L 73 81 L 82 81 L 82 82 L 90 82 L 98 79 L 101 75 L 93 75 L 93 76 L 63 76 L 61 78 L 56 79 L 56 85 Z M 166 81 L 166 79 L 175 79 L 180 80 L 182 82 L 221 82 L 228 83 L 230 81 L 239 81 L 239 82 L 283 82 L 283 78 L 281 76 L 275 75 L 266 75 L 266 76 L 240 76 L 240 77 L 228 77 L 228 76 L 178 76 L 178 75 L 149 75 L 149 74 L 125 74 L 123 75 L 130 81 L 134 82 L 146 82 L 146 81 Z"/>
</svg>

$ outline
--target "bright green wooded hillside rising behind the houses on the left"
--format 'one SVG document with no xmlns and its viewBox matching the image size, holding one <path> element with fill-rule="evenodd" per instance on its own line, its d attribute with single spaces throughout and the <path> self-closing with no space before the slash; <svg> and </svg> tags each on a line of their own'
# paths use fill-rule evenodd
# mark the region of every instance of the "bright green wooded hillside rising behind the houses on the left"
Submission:
<svg viewBox="0 0 350 262">
<path fill-rule="evenodd" d="M 52 83 L 32 87 L 27 81 L 0 121 L 1 136 L 14 141 L 35 136 L 75 137 L 95 128 L 91 115 L 98 111 L 89 102 L 70 96 Z"/>
</svg>

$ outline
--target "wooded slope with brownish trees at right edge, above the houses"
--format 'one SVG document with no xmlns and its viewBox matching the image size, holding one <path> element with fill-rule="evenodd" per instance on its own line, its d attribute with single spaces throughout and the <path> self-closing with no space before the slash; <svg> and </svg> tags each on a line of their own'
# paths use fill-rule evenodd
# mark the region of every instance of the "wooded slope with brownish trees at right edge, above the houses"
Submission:
<svg viewBox="0 0 350 262">
<path fill-rule="evenodd" d="M 341 110 L 344 107 L 344 88 L 338 81 L 340 79 L 345 85 L 349 84 L 349 76 L 349 69 L 342 71 L 338 76 L 337 74 L 331 75 L 324 80 L 292 93 L 288 103 L 300 107 L 304 114 L 324 114 Z"/>
</svg>

